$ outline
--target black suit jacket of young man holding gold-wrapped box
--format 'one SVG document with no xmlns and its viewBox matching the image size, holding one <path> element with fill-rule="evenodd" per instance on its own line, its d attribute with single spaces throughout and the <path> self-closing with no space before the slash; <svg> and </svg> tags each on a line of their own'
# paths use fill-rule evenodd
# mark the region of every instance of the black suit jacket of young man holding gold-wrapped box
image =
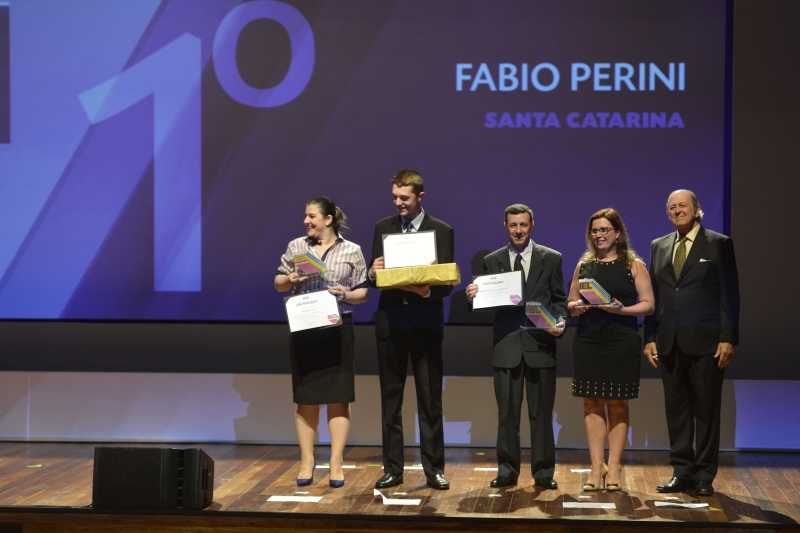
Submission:
<svg viewBox="0 0 800 533">
<path fill-rule="evenodd" d="M 426 212 L 418 231 L 436 232 L 436 258 L 439 264 L 453 263 L 453 228 L 428 215 Z M 375 236 L 372 239 L 372 258 L 367 270 L 372 268 L 372 263 L 378 257 L 383 257 L 383 235 L 387 233 L 402 233 L 403 225 L 400 215 L 379 220 L 375 224 Z M 375 287 L 375 280 L 369 283 Z M 436 285 L 431 287 L 431 295 L 423 298 L 413 292 L 401 289 L 381 291 L 378 302 L 378 313 L 375 320 L 375 334 L 378 337 L 389 335 L 390 329 L 424 328 L 431 330 L 444 330 L 444 304 L 442 299 L 453 292 L 452 285 Z M 403 312 L 403 300 L 408 302 L 408 310 Z"/>
</svg>

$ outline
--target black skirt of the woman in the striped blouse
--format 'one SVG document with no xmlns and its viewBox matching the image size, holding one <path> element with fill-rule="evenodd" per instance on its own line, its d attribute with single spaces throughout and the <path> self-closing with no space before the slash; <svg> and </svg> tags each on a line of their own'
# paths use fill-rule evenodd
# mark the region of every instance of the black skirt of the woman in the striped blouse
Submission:
<svg viewBox="0 0 800 533">
<path fill-rule="evenodd" d="M 294 403 L 352 403 L 355 392 L 355 330 L 353 316 L 342 325 L 292 333 L 289 338 Z"/>
</svg>

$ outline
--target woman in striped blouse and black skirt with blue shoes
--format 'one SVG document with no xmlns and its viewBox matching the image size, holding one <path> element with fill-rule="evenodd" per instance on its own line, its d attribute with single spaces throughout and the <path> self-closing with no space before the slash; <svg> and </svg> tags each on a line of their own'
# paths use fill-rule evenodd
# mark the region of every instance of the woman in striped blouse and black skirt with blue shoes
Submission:
<svg viewBox="0 0 800 533">
<path fill-rule="evenodd" d="M 350 432 L 350 403 L 355 401 L 355 335 L 353 305 L 367 301 L 367 267 L 361 247 L 343 239 L 342 210 L 330 198 L 314 198 L 306 204 L 306 236 L 289 243 L 275 277 L 279 292 L 303 294 L 327 290 L 339 300 L 342 325 L 309 329 L 291 334 L 292 392 L 295 427 L 300 444 L 300 473 L 297 484 L 310 485 L 314 479 L 314 440 L 319 425 L 319 406 L 328 406 L 331 435 L 331 487 L 344 485 L 342 454 Z M 294 264 L 296 254 L 310 254 L 328 268 L 324 275 L 301 276 Z"/>
</svg>

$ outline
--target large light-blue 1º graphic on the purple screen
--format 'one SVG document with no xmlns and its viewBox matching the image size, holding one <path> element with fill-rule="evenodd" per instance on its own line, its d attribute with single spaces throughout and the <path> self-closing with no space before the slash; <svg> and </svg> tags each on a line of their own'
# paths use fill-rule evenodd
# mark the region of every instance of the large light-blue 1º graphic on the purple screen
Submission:
<svg viewBox="0 0 800 533">
<path fill-rule="evenodd" d="M 236 66 L 242 28 L 261 18 L 279 22 L 291 39 L 289 71 L 269 89 L 247 85 Z M 294 100 L 308 84 L 314 36 L 295 8 L 273 0 L 248 2 L 222 20 L 213 54 L 217 79 L 231 98 L 251 107 L 275 107 Z M 156 291 L 202 290 L 201 63 L 200 39 L 186 33 L 79 95 L 92 124 L 153 96 Z"/>
</svg>

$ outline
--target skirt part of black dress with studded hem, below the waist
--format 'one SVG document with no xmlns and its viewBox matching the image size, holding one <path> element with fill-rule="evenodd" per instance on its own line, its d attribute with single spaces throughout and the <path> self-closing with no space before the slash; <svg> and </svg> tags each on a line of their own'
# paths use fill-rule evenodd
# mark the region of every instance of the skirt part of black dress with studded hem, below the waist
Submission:
<svg viewBox="0 0 800 533">
<path fill-rule="evenodd" d="M 639 396 L 642 338 L 638 333 L 601 330 L 575 337 L 572 395 L 605 400 Z"/>
</svg>

